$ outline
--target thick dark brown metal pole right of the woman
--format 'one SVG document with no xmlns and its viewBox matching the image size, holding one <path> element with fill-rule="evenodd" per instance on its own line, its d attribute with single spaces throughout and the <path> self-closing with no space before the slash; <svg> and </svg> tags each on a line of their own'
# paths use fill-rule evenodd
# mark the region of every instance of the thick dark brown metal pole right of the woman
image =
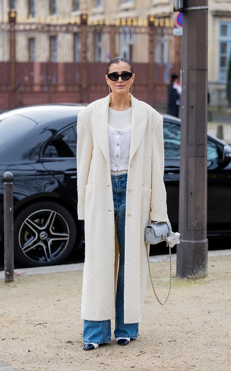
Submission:
<svg viewBox="0 0 231 371">
<path fill-rule="evenodd" d="M 183 1 L 182 124 L 176 274 L 207 275 L 208 0 Z"/>
</svg>

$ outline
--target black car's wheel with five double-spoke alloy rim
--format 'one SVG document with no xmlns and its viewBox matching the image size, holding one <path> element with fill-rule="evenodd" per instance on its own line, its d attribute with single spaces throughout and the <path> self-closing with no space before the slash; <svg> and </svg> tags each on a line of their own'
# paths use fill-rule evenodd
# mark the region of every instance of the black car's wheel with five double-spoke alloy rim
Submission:
<svg viewBox="0 0 231 371">
<path fill-rule="evenodd" d="M 37 202 L 17 214 L 14 222 L 15 260 L 21 266 L 63 262 L 76 242 L 76 224 L 70 212 L 54 202 Z"/>
</svg>

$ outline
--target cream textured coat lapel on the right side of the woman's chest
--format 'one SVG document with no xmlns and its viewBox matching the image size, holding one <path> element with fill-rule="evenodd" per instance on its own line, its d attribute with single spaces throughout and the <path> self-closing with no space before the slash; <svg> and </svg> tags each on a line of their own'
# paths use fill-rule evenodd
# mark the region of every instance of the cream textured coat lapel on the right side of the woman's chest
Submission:
<svg viewBox="0 0 231 371">
<path fill-rule="evenodd" d="M 132 131 L 129 163 L 132 160 L 135 152 L 144 135 L 145 127 L 147 125 L 147 113 L 145 112 L 141 102 L 132 96 Z"/>
</svg>

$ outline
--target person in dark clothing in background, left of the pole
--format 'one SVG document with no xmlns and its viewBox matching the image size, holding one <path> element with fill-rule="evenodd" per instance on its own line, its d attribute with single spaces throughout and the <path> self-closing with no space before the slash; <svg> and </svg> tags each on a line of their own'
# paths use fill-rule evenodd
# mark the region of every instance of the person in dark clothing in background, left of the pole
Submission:
<svg viewBox="0 0 231 371">
<path fill-rule="evenodd" d="M 181 86 L 179 85 L 179 76 L 173 73 L 171 75 L 170 84 L 168 85 L 167 114 L 179 117 L 180 92 Z"/>
</svg>

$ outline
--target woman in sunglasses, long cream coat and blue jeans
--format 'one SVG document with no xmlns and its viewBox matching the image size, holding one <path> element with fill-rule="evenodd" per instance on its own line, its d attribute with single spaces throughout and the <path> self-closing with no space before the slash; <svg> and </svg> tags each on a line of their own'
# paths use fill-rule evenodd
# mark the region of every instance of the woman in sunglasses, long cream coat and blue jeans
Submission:
<svg viewBox="0 0 231 371">
<path fill-rule="evenodd" d="M 147 278 L 145 226 L 167 221 L 163 117 L 129 91 L 135 75 L 109 62 L 112 93 L 78 114 L 78 219 L 85 220 L 84 350 L 138 336 Z"/>
</svg>

